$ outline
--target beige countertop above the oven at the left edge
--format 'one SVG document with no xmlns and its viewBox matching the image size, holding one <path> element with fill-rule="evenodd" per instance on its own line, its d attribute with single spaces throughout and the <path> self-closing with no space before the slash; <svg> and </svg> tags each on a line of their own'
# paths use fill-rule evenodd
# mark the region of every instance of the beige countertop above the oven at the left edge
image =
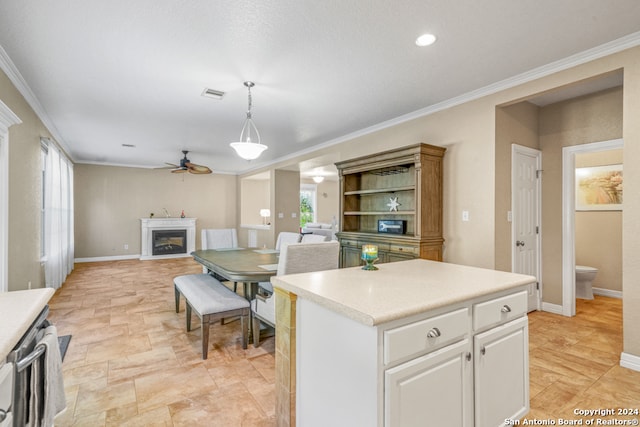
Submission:
<svg viewBox="0 0 640 427">
<path fill-rule="evenodd" d="M 45 288 L 0 293 L 0 358 L 27 332 L 54 292 Z"/>
</svg>

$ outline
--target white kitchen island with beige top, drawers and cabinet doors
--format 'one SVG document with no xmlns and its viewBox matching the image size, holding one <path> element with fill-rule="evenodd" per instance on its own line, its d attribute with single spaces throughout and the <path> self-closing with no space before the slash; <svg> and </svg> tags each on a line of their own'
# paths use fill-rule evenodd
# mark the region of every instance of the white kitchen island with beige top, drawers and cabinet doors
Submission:
<svg viewBox="0 0 640 427">
<path fill-rule="evenodd" d="M 296 425 L 494 427 L 527 414 L 534 277 L 423 259 L 378 268 L 273 278 L 295 302 Z"/>
</svg>

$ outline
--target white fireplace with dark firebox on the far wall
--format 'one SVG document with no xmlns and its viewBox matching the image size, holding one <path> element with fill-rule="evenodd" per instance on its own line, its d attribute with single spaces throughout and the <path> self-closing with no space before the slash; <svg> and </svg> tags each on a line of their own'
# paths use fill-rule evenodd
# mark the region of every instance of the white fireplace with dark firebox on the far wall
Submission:
<svg viewBox="0 0 640 427">
<path fill-rule="evenodd" d="M 140 218 L 140 259 L 189 257 L 196 250 L 195 218 Z"/>
</svg>

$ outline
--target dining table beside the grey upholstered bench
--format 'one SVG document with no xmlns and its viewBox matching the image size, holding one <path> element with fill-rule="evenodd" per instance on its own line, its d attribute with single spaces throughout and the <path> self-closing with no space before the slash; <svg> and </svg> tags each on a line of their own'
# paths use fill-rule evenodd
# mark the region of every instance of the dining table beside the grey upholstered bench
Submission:
<svg viewBox="0 0 640 427">
<path fill-rule="evenodd" d="M 268 282 L 278 270 L 279 251 L 257 248 L 202 249 L 191 256 L 222 279 L 243 284 L 244 296 L 253 299 L 259 282 Z"/>
</svg>

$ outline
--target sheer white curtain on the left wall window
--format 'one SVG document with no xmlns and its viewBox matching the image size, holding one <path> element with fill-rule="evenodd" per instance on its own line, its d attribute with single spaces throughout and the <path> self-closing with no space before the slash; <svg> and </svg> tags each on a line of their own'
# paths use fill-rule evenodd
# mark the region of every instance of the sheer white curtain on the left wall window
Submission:
<svg viewBox="0 0 640 427">
<path fill-rule="evenodd" d="M 44 193 L 45 282 L 58 289 L 73 270 L 73 164 L 52 143 Z"/>
</svg>

